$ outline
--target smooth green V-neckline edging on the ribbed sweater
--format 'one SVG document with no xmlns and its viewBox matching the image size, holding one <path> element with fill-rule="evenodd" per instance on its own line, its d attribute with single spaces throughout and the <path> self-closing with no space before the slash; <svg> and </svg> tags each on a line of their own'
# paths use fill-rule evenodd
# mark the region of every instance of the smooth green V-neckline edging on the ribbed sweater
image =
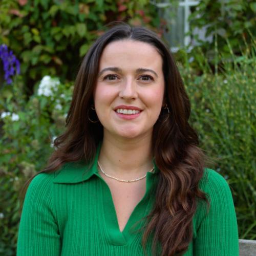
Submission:
<svg viewBox="0 0 256 256">
<path fill-rule="evenodd" d="M 103 218 L 104 218 L 106 233 L 108 233 L 110 242 L 113 245 L 126 245 L 132 240 L 132 238 L 136 237 L 136 235 L 133 234 L 133 229 L 132 229 L 133 225 L 136 224 L 136 222 L 140 221 L 143 217 L 145 217 L 149 213 L 150 208 L 152 207 L 152 201 L 153 201 L 151 199 L 151 197 L 153 196 L 152 187 L 154 187 L 153 183 L 155 182 L 156 176 L 154 175 L 154 173 L 148 172 L 146 174 L 145 194 L 133 209 L 122 231 L 120 231 L 120 228 L 119 228 L 116 209 L 115 209 L 110 187 L 102 179 L 102 177 L 99 174 L 97 174 L 97 176 L 102 181 L 101 185 L 103 186 L 102 207 L 103 207 L 103 212 L 105 213 Z M 142 224 L 143 224 L 142 222 L 138 223 L 138 225 L 135 226 L 136 230 L 140 229 L 142 227 Z"/>
</svg>

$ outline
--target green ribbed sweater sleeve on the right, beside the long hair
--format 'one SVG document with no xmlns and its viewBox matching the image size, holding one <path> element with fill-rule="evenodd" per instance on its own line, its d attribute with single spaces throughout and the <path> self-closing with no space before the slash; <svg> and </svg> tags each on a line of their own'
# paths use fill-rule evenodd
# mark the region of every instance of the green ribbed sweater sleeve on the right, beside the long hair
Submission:
<svg viewBox="0 0 256 256">
<path fill-rule="evenodd" d="M 195 256 L 238 256 L 239 239 L 236 212 L 226 180 L 208 169 L 208 181 L 203 189 L 208 195 L 208 214 L 201 212 L 201 220 L 194 240 Z"/>
</svg>

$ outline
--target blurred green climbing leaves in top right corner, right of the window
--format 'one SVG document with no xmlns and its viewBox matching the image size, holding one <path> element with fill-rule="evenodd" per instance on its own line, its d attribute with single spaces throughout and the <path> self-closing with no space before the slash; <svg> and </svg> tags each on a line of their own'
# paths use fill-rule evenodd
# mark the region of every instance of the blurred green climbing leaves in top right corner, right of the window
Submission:
<svg viewBox="0 0 256 256">
<path fill-rule="evenodd" d="M 200 49 L 206 55 L 209 63 L 214 66 L 215 48 L 222 54 L 223 59 L 230 58 L 229 44 L 235 55 L 242 55 L 249 46 L 253 46 L 256 36 L 256 3 L 254 0 L 225 0 L 210 1 L 201 0 L 199 4 L 191 8 L 189 16 L 190 36 L 194 43 L 200 45 Z M 194 29 L 206 29 L 206 37 L 212 36 L 212 41 L 199 39 L 193 35 Z M 197 47 L 193 51 L 197 50 Z M 193 53 L 194 54 L 194 53 Z"/>
</svg>

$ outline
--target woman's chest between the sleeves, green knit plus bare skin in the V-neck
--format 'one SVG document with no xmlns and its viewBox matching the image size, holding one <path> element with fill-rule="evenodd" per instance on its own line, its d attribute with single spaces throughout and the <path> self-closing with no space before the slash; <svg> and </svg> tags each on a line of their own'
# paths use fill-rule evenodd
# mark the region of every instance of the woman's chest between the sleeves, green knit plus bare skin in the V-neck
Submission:
<svg viewBox="0 0 256 256">
<path fill-rule="evenodd" d="M 91 179 L 74 185 L 59 184 L 53 193 L 61 256 L 145 255 L 142 233 L 130 230 L 152 209 L 154 195 L 150 189 L 109 186 Z M 142 225 L 139 223 L 136 229 Z M 150 245 L 146 250 L 151 255 Z"/>
</svg>

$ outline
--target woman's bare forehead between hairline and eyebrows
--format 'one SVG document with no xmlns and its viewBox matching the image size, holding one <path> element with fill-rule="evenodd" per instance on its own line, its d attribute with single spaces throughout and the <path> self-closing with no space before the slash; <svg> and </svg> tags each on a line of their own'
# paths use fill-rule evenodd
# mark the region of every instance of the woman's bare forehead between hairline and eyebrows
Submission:
<svg viewBox="0 0 256 256">
<path fill-rule="evenodd" d="M 158 50 L 147 42 L 124 39 L 107 45 L 100 57 L 99 68 L 113 66 L 123 68 L 162 69 L 162 57 Z"/>
</svg>

